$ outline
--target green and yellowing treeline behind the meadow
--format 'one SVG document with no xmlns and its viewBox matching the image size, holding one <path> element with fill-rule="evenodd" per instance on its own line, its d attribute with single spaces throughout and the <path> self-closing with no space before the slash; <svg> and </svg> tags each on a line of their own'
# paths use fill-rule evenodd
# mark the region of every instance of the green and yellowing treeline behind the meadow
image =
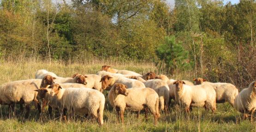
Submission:
<svg viewBox="0 0 256 132">
<path fill-rule="evenodd" d="M 57 3 L 59 2 L 59 3 Z M 149 60 L 170 74 L 256 78 L 256 2 L 1 0 L 0 57 Z M 237 78 L 237 79 L 235 79 Z"/>
</svg>

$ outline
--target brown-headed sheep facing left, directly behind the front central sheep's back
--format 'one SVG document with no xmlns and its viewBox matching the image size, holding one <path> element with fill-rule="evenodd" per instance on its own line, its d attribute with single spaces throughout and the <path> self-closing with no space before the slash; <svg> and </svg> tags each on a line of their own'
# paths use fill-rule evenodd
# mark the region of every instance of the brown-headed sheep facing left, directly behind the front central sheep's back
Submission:
<svg viewBox="0 0 256 132">
<path fill-rule="evenodd" d="M 115 83 L 125 84 L 127 85 L 128 88 L 145 88 L 145 85 L 143 84 L 143 82 L 140 82 L 135 79 L 129 79 L 126 77 L 113 77 L 113 76 L 106 75 L 101 77 L 100 82 L 102 84 L 101 88 L 104 90 L 110 90 Z"/>
</svg>

